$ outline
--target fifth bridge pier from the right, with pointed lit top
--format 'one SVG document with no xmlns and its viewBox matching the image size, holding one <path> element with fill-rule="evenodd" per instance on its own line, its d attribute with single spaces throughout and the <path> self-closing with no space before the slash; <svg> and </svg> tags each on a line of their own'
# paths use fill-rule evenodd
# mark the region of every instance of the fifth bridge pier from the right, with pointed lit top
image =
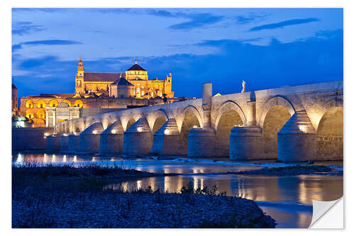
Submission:
<svg viewBox="0 0 355 236">
<path fill-rule="evenodd" d="M 124 153 L 149 154 L 153 145 L 153 134 L 145 117 L 139 118 L 136 123 L 124 132 Z"/>
</svg>

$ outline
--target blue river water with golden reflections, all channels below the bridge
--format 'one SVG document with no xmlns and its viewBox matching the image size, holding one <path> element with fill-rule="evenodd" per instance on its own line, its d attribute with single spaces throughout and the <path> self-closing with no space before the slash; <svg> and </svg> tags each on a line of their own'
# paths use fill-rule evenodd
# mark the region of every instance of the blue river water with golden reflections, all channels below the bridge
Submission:
<svg viewBox="0 0 355 236">
<path fill-rule="evenodd" d="M 217 186 L 228 196 L 241 196 L 258 203 L 264 212 L 278 223 L 277 227 L 308 227 L 312 221 L 312 200 L 333 201 L 342 196 L 342 176 L 298 175 L 260 176 L 221 174 L 239 170 L 281 167 L 288 164 L 275 162 L 233 162 L 228 159 L 188 159 L 172 157 L 157 159 L 146 157 L 126 159 L 123 157 L 75 156 L 63 154 L 13 154 L 13 164 L 23 162 L 63 164 L 104 164 L 122 165 L 146 172 L 183 173 L 180 176 L 163 176 L 110 184 L 110 187 L 138 189 L 151 186 L 168 192 L 179 192 L 191 181 L 194 188 Z M 324 163 L 322 163 L 324 164 Z M 327 164 L 327 163 L 325 163 Z M 328 163 L 333 166 L 339 163 Z"/>
</svg>

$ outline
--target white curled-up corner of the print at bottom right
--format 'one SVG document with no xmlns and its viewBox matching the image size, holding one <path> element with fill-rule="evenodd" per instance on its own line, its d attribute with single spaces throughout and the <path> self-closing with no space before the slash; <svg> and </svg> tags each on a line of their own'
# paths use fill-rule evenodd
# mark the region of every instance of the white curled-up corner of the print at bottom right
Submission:
<svg viewBox="0 0 355 236">
<path fill-rule="evenodd" d="M 313 215 L 310 228 L 342 229 L 344 228 L 343 197 L 335 201 L 313 200 Z"/>
</svg>

